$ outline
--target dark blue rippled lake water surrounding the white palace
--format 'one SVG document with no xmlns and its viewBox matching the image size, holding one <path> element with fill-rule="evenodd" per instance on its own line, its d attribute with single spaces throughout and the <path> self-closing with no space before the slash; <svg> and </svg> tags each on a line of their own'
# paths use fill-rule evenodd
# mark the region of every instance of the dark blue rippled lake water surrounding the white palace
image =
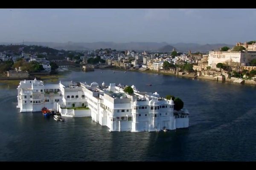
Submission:
<svg viewBox="0 0 256 170">
<path fill-rule="evenodd" d="M 39 112 L 20 113 L 17 86 L 2 84 L 0 161 L 256 161 L 255 86 L 111 70 L 73 71 L 61 78 L 67 80 L 177 96 L 190 112 L 190 126 L 110 133 L 89 117 L 56 122 Z"/>
</svg>

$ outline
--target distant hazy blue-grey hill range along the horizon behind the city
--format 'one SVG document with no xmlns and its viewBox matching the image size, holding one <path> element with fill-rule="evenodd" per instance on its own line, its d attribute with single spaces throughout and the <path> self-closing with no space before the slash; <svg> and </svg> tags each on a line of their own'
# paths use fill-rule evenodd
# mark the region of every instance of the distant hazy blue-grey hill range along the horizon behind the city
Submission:
<svg viewBox="0 0 256 170">
<path fill-rule="evenodd" d="M 10 42 L 0 43 L 3 45 L 9 45 Z M 12 43 L 12 44 L 23 44 L 23 42 Z M 169 44 L 167 42 L 24 42 L 24 45 L 42 45 L 58 50 L 96 50 L 100 48 L 111 48 L 116 50 L 135 50 L 135 51 L 160 51 L 169 52 L 175 48 L 180 52 L 191 51 L 210 51 L 216 50 L 223 46 L 233 47 L 234 45 L 229 44 L 205 44 L 200 45 L 197 43 L 176 43 Z"/>
</svg>

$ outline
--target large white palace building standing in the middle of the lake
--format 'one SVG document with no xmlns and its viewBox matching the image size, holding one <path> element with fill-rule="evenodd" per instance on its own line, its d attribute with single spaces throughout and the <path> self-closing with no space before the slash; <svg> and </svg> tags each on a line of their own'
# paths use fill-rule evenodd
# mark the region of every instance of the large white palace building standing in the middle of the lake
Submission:
<svg viewBox="0 0 256 170">
<path fill-rule="evenodd" d="M 91 116 L 93 121 L 108 126 L 109 131 L 159 131 L 189 127 L 189 113 L 174 111 L 174 101 L 154 94 L 124 92 L 125 86 L 111 83 L 21 81 L 17 88 L 20 112 L 39 112 L 43 107 L 61 116 Z M 86 106 L 86 108 L 85 108 Z"/>
</svg>

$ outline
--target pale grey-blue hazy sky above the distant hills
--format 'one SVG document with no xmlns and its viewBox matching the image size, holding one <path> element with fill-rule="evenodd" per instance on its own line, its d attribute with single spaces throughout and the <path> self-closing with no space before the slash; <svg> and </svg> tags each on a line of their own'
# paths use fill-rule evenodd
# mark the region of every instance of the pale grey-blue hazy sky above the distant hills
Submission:
<svg viewBox="0 0 256 170">
<path fill-rule="evenodd" d="M 0 9 L 0 42 L 256 40 L 256 9 Z"/>
</svg>

